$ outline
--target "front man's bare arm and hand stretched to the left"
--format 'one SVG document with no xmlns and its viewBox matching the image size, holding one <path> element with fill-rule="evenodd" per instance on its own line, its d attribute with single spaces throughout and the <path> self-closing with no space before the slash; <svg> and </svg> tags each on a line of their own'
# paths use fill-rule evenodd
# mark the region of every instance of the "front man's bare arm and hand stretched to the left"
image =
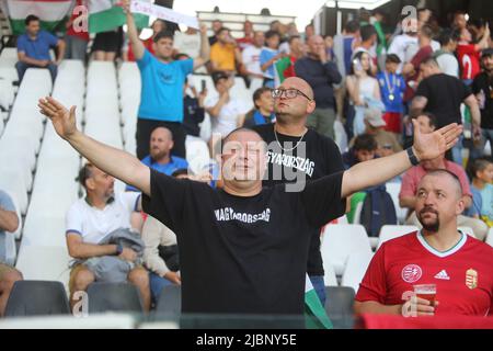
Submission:
<svg viewBox="0 0 493 351">
<path fill-rule="evenodd" d="M 77 129 L 76 106 L 68 111 L 53 98 L 41 99 L 41 113 L 51 120 L 57 134 L 102 171 L 150 196 L 150 170 L 136 157 L 96 141 Z"/>
</svg>

